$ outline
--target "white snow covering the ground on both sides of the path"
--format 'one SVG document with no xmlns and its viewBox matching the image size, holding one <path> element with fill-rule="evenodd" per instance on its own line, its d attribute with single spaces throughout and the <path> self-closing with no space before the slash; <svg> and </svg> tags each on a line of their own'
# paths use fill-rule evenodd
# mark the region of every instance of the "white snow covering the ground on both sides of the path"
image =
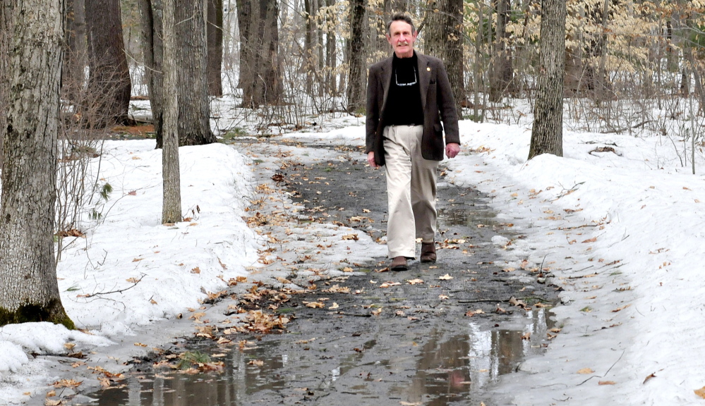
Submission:
<svg viewBox="0 0 705 406">
<path fill-rule="evenodd" d="M 363 144 L 362 119 L 337 125 L 284 137 Z M 504 376 L 492 402 L 705 402 L 694 392 L 705 386 L 705 179 L 681 166 L 674 144 L 565 132 L 564 157 L 527 162 L 530 126 L 463 121 L 461 135 L 462 154 L 446 162 L 449 179 L 493 196 L 500 218 L 524 236 L 498 241 L 498 255 L 510 266 L 543 264 L 564 289 L 564 305 L 553 309 L 561 331 L 550 349 Z M 181 148 L 182 204 L 191 219 L 163 226 L 161 152 L 153 147 L 150 140 L 107 142 L 101 178 L 114 190 L 104 219 L 64 252 L 57 269 L 64 306 L 89 333 L 48 324 L 0 328 L 4 403 L 43 395 L 52 383 L 47 361 L 28 353 L 66 353 L 67 342 L 100 352 L 200 306 L 230 278 L 266 271 L 258 263 L 266 241 L 242 216 L 260 182 L 247 164 L 260 159 L 273 171 L 272 156 L 247 157 L 223 144 Z M 311 159 L 294 147 L 280 153 Z M 696 167 L 705 169 L 699 151 Z M 287 204 L 291 209 L 282 196 Z M 313 227 L 319 235 L 346 232 Z M 380 252 L 370 248 L 370 255 Z"/>
</svg>

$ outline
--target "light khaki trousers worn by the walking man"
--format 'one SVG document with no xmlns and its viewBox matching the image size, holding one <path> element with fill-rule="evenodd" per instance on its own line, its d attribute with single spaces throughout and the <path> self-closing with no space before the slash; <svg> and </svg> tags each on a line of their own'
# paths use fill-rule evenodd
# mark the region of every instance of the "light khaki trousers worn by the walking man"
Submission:
<svg viewBox="0 0 705 406">
<path fill-rule="evenodd" d="M 416 238 L 435 239 L 438 161 L 421 156 L 422 135 L 423 125 L 390 125 L 384 130 L 390 258 L 414 258 Z"/>
</svg>

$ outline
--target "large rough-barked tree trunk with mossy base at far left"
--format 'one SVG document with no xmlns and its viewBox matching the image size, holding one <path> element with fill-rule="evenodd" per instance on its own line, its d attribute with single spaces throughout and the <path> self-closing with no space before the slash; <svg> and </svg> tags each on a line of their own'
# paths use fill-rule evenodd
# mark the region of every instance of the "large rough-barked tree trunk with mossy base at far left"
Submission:
<svg viewBox="0 0 705 406">
<path fill-rule="evenodd" d="M 61 305 L 54 259 L 64 1 L 8 3 L 3 18 L 14 27 L 0 198 L 0 326 L 51 321 L 75 328 Z"/>
</svg>

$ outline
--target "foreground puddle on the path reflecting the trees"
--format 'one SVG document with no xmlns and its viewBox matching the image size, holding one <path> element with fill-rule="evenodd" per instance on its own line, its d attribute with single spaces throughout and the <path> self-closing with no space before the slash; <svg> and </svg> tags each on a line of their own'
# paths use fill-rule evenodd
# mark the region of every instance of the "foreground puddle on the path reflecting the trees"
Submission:
<svg viewBox="0 0 705 406">
<path fill-rule="evenodd" d="M 216 345 L 191 348 L 224 353 L 225 357 L 219 358 L 225 362 L 224 370 L 219 374 L 164 370 L 152 376 L 135 374 L 124 388 L 92 395 L 98 400 L 91 405 L 243 406 L 305 401 L 313 405 L 366 405 L 372 401 L 370 404 L 379 405 L 380 401 L 388 404 L 387 400 L 448 405 L 469 400 L 500 375 L 514 371 L 526 355 L 541 353 L 542 338 L 551 324 L 546 310 L 536 309 L 526 318 L 510 321 L 515 328 L 488 329 L 481 319 L 469 319 L 465 330 L 456 325 L 450 335 L 437 326 L 412 352 L 404 352 L 402 343 L 394 340 L 392 347 L 368 340 L 364 350 L 352 353 L 332 341 L 325 350 L 313 346 L 302 350 L 286 335 L 263 340 L 258 347 L 242 352 L 236 348 L 224 351 Z M 531 333 L 531 340 L 522 340 L 526 333 Z M 319 396 L 323 396 L 318 399 L 322 402 L 316 401 Z"/>
</svg>

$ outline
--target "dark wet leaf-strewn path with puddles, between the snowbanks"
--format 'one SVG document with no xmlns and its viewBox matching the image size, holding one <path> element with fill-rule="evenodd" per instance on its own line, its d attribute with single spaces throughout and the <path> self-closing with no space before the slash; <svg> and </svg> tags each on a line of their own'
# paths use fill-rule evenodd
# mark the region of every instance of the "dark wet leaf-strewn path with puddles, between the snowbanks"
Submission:
<svg viewBox="0 0 705 406">
<path fill-rule="evenodd" d="M 90 404 L 492 405 L 486 388 L 545 349 L 555 290 L 538 283 L 538 269 L 512 269 L 500 260 L 490 239 L 521 236 L 496 221 L 486 205 L 490 197 L 447 185 L 445 171 L 440 168 L 437 263 L 412 262 L 405 272 L 379 272 L 385 258 L 351 264 L 355 275 L 261 304 L 291 319 L 284 332 L 233 334 L 221 344 L 175 341 L 137 364 L 123 385 L 90 395 L 97 398 Z M 289 166 L 280 175 L 306 206 L 301 221 L 384 235 L 383 171 L 363 161 L 322 161 Z M 188 374 L 151 366 L 184 351 L 223 364 Z"/>
</svg>

